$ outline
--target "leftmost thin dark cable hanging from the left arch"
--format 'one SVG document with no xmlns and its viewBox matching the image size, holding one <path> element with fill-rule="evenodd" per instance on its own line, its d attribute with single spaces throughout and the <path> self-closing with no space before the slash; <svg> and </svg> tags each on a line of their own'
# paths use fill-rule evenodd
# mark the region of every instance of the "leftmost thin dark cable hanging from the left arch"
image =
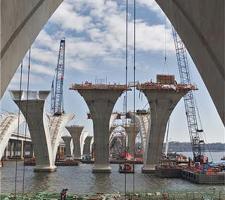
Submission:
<svg viewBox="0 0 225 200">
<path fill-rule="evenodd" d="M 20 111 L 20 106 L 21 106 L 21 97 L 22 97 L 22 80 L 23 80 L 23 61 L 21 63 L 21 66 L 20 66 L 20 86 L 19 86 L 19 92 L 20 92 L 20 95 L 19 95 L 19 109 L 18 109 L 18 121 L 17 121 L 17 138 L 16 138 L 16 143 L 15 143 L 15 150 L 18 149 L 18 142 L 19 142 L 19 131 L 20 131 L 20 115 L 21 115 L 21 111 Z M 16 152 L 16 151 L 15 151 Z M 14 191 L 14 197 L 16 199 L 16 195 L 17 195 L 17 171 L 18 171 L 18 158 L 17 158 L 17 155 L 16 155 L 16 168 L 15 168 L 15 191 Z"/>
</svg>

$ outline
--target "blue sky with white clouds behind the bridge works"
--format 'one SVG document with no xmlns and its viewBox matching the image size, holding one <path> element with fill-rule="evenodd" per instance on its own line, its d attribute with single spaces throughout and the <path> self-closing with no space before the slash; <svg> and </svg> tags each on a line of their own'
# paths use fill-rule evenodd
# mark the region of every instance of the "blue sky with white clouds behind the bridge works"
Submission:
<svg viewBox="0 0 225 200">
<path fill-rule="evenodd" d="M 137 0 L 136 19 L 136 77 L 139 82 L 155 80 L 156 74 L 175 74 L 179 82 L 171 25 L 154 0 Z M 128 79 L 133 80 L 133 9 L 129 7 L 129 66 Z M 32 90 L 50 90 L 57 63 L 59 41 L 66 38 L 66 69 L 64 82 L 64 107 L 73 112 L 70 124 L 84 125 L 92 134 L 92 121 L 86 118 L 88 107 L 82 97 L 68 88 L 72 83 L 95 82 L 105 79 L 125 83 L 125 1 L 119 0 L 65 0 L 56 10 L 32 45 Z M 164 64 L 165 49 L 167 62 Z M 189 56 L 192 80 L 199 90 L 195 92 L 203 128 L 208 142 L 225 142 L 224 126 L 217 114 L 209 93 Z M 24 58 L 27 68 L 27 56 Z M 26 88 L 23 71 L 23 88 Z M 8 89 L 19 89 L 19 69 Z M 147 100 L 137 94 L 137 108 Z M 139 96 L 141 98 L 139 98 Z M 128 105 L 133 108 L 132 93 Z M 17 112 L 8 92 L 1 100 L 3 111 Z M 114 110 L 123 110 L 123 96 Z M 50 108 L 50 98 L 46 110 Z M 181 100 L 171 115 L 170 140 L 189 141 L 184 103 Z"/>
</svg>

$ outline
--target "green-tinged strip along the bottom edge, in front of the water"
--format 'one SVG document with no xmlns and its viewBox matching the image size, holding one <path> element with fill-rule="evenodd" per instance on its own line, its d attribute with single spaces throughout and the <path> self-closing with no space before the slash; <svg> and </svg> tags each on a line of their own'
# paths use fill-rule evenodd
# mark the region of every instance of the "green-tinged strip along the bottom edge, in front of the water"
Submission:
<svg viewBox="0 0 225 200">
<path fill-rule="evenodd" d="M 58 200 L 60 199 L 59 193 L 29 193 L 25 195 L 18 194 L 15 198 L 13 194 L 10 195 L 0 195 L 1 200 Z M 136 193 L 136 194 L 127 194 L 126 198 L 124 194 L 93 194 L 93 195 L 68 195 L 67 200 L 153 200 L 153 199 L 162 199 L 162 200 L 224 200 L 225 199 L 225 191 L 209 191 L 208 193 L 201 192 L 176 192 L 176 193 Z"/>
</svg>

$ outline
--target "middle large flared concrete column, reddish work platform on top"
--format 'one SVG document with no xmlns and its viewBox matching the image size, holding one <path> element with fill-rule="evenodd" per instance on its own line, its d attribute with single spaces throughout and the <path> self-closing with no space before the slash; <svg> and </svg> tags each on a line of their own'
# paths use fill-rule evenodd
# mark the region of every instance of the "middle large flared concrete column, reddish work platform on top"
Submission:
<svg viewBox="0 0 225 200">
<path fill-rule="evenodd" d="M 113 107 L 126 86 L 73 85 L 86 101 L 94 127 L 95 163 L 93 172 L 110 172 L 109 163 L 109 121 Z"/>
</svg>

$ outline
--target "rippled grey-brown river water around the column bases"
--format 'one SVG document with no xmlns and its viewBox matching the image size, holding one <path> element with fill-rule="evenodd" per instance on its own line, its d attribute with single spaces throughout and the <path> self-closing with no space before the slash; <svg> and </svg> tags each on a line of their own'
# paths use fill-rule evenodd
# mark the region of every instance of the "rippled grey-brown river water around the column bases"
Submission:
<svg viewBox="0 0 225 200">
<path fill-rule="evenodd" d="M 222 153 L 213 153 L 222 155 Z M 215 155 L 214 155 L 215 156 Z M 216 157 L 216 156 L 215 156 Z M 218 156 L 219 158 L 220 156 Z M 114 193 L 124 192 L 125 175 L 118 173 L 118 165 L 113 164 L 110 174 L 93 174 L 91 164 L 73 167 L 57 167 L 54 173 L 34 173 L 33 167 L 25 167 L 25 192 L 60 192 L 68 188 L 70 193 Z M 133 178 L 136 192 L 179 192 L 209 191 L 212 188 L 225 191 L 225 186 L 196 185 L 181 179 L 162 179 L 141 173 L 142 165 L 135 165 L 135 174 L 126 175 L 126 187 L 132 191 Z M 18 163 L 17 191 L 22 190 L 23 162 Z M 1 193 L 11 193 L 15 188 L 15 162 L 5 162 L 0 169 Z"/>
</svg>

